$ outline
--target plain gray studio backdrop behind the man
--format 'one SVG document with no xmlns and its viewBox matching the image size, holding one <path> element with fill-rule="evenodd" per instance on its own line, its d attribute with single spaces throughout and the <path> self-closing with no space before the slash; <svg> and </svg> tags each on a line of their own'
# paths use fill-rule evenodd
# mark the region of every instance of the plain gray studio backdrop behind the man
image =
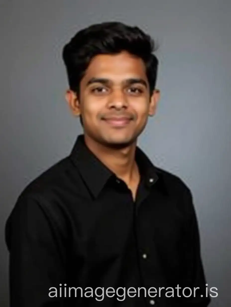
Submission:
<svg viewBox="0 0 231 307">
<path fill-rule="evenodd" d="M 152 161 L 191 188 L 211 306 L 231 287 L 231 1 L 1 1 L 0 305 L 8 306 L 5 221 L 31 180 L 70 153 L 79 120 L 64 92 L 63 45 L 102 21 L 138 25 L 160 44 L 157 114 L 139 139 Z"/>
</svg>

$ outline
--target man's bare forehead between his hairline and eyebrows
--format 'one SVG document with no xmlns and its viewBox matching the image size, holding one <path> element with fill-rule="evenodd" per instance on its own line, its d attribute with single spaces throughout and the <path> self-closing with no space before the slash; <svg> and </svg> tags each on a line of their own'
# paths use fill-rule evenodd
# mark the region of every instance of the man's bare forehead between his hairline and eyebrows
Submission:
<svg viewBox="0 0 231 307">
<path fill-rule="evenodd" d="M 128 52 L 95 56 L 91 60 L 83 79 L 87 81 L 91 77 L 104 77 L 115 81 L 132 77 L 147 79 L 143 60 Z"/>
</svg>

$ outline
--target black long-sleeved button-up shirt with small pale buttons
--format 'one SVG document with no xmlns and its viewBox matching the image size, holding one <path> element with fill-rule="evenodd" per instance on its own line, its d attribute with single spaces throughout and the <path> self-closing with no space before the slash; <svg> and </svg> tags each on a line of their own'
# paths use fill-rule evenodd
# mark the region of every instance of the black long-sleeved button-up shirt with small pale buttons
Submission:
<svg viewBox="0 0 231 307">
<path fill-rule="evenodd" d="M 134 202 L 79 135 L 69 156 L 21 192 L 5 230 L 11 307 L 209 304 L 189 188 L 139 147 L 136 161 Z"/>
</svg>

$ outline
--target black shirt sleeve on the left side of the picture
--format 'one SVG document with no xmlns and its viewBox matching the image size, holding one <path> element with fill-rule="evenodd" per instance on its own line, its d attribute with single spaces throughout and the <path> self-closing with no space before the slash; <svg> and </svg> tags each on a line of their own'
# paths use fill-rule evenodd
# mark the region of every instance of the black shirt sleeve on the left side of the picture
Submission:
<svg viewBox="0 0 231 307">
<path fill-rule="evenodd" d="M 6 221 L 5 239 L 10 252 L 10 306 L 64 306 L 59 290 L 67 282 L 65 243 L 40 200 L 18 198 Z M 52 287 L 57 297 L 49 296 L 55 291 Z"/>
</svg>

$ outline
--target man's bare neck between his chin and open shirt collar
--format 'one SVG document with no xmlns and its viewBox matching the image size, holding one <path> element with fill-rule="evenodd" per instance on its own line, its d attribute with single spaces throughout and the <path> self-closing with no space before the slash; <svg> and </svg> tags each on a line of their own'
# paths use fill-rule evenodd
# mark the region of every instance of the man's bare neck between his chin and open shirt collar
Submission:
<svg viewBox="0 0 231 307">
<path fill-rule="evenodd" d="M 127 147 L 114 149 L 94 141 L 86 134 L 84 134 L 84 140 L 94 155 L 118 178 L 124 180 L 128 185 L 137 181 L 139 177 L 139 169 L 135 161 L 137 141 Z"/>
</svg>

